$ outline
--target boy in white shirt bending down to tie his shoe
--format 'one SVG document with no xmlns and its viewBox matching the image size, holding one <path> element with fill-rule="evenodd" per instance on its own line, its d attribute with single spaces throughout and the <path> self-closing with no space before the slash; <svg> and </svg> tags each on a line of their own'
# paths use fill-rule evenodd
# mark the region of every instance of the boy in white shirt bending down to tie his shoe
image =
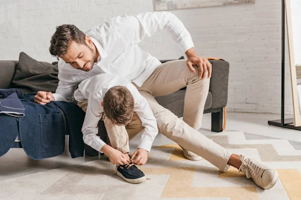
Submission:
<svg viewBox="0 0 301 200">
<path fill-rule="evenodd" d="M 99 74 L 83 80 L 74 97 L 86 112 L 82 126 L 84 142 L 104 152 L 111 163 L 117 165 L 115 172 L 124 180 L 130 183 L 146 180 L 135 164 L 147 161 L 158 126 L 146 99 L 136 87 L 122 76 Z M 104 121 L 111 146 L 96 135 L 100 119 Z M 141 131 L 138 149 L 129 157 L 128 141 Z"/>
</svg>

